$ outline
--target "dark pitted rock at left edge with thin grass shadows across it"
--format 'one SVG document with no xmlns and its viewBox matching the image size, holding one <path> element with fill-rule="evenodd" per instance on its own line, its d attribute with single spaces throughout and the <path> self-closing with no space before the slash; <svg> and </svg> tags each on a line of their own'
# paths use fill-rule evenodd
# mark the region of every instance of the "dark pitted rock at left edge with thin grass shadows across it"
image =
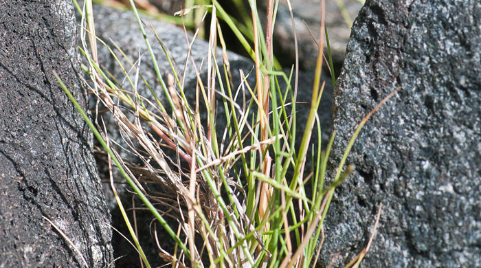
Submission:
<svg viewBox="0 0 481 268">
<path fill-rule="evenodd" d="M 82 107 L 68 0 L 0 1 L 0 267 L 113 263 L 110 216 Z"/>
</svg>

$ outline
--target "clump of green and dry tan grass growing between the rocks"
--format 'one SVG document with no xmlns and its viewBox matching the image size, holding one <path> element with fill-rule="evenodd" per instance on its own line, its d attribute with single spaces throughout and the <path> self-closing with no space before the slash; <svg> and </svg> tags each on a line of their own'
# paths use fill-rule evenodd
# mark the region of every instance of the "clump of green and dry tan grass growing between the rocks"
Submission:
<svg viewBox="0 0 481 268">
<path fill-rule="evenodd" d="M 324 6 L 324 1 L 321 5 Z M 142 265 L 151 267 L 142 248 L 143 241 L 137 238 L 135 226 L 147 223 L 133 225 L 128 219 L 115 190 L 113 168 L 120 170 L 145 208 L 175 241 L 173 249 L 163 249 L 159 245 L 162 258 L 172 267 L 311 267 L 315 264 L 324 241 L 322 224 L 335 188 L 354 168 L 352 165 L 345 167 L 350 148 L 372 113 L 396 92 L 359 123 L 337 167 L 333 183 L 325 185 L 326 166 L 335 133 L 325 150 L 320 148 L 320 135 L 317 140 L 311 140 L 314 129 L 321 133 L 317 108 L 325 83 L 320 80 L 324 42 L 319 42 L 309 119 L 302 142 L 295 144 L 295 129 L 299 127 L 295 116 L 297 82 L 293 88 L 289 85 L 293 77 L 297 79 L 297 67 L 289 75 L 276 71 L 274 67 L 271 42 L 277 2 L 269 1 L 267 31 L 263 32 L 256 3 L 249 1 L 252 29 L 249 34 L 253 45 L 216 1 L 193 7 L 204 12 L 208 10 L 212 19 L 208 38 L 210 50 L 206 52 L 208 57 L 204 63 L 208 65 L 207 81 L 201 80 L 197 71 L 201 63 L 192 63 L 198 78 L 195 89 L 197 102 L 192 107 L 186 100 L 186 91 L 193 89 L 183 88 L 182 78 L 172 63 L 172 74 L 164 81 L 147 38 L 148 53 L 153 60 L 157 80 L 164 89 L 166 102 L 160 102 L 160 96 L 148 100 L 139 94 L 137 84 L 142 74 L 137 68 L 138 61 L 133 65 L 134 75 L 124 71 L 128 85 L 116 85 L 98 62 L 97 46 L 105 43 L 95 36 L 91 1 L 85 1 L 82 7 L 76 3 L 76 7 L 82 14 L 80 51 L 88 62 L 83 68 L 90 80 L 86 85 L 110 112 L 118 126 L 117 131 L 124 133 L 127 144 L 139 144 L 140 148 L 132 146 L 131 151 L 142 161 L 142 166 L 133 166 L 120 157 L 118 147 L 113 146 L 115 141 L 109 139 L 107 127 L 97 120 L 91 122 L 60 79 L 59 82 L 107 152 L 111 187 Z M 324 18 L 324 8 L 321 10 Z M 135 8 L 133 16 L 137 18 L 139 31 L 144 36 L 147 32 L 155 34 L 153 28 L 144 29 Z M 234 91 L 239 85 L 229 82 L 232 81 L 232 70 L 228 65 L 218 19 L 230 25 L 254 61 L 256 84 L 249 85 L 244 80 L 240 85 L 251 93 L 250 100 L 243 96 L 245 102 L 241 104 L 235 101 L 238 94 L 243 94 Z M 320 36 L 324 40 L 327 37 L 324 20 L 320 23 Z M 224 55 L 221 66 L 215 57 L 217 40 Z M 159 36 L 157 41 L 162 45 Z M 117 59 L 113 52 L 112 55 Z M 120 60 L 118 64 L 121 65 Z M 122 66 L 122 69 L 131 67 Z M 279 80 L 284 80 L 287 87 L 281 87 Z M 216 107 L 219 96 L 220 107 Z M 203 107 L 208 115 L 206 122 L 200 120 L 200 99 L 206 104 Z M 225 118 L 216 116 L 218 109 L 225 109 Z M 169 114 L 167 111 L 174 112 Z M 225 120 L 227 128 L 224 133 L 217 133 L 214 127 L 216 120 Z M 309 146 L 313 146 L 315 151 L 313 170 L 306 169 L 305 165 Z M 174 151 L 181 161 L 170 161 L 166 153 L 168 150 Z M 292 175 L 288 177 L 289 174 Z M 150 192 L 150 184 L 164 189 L 168 200 Z M 164 203 L 164 206 L 155 205 L 157 203 Z M 381 208 L 377 221 L 380 213 Z M 173 229 L 166 216 L 178 219 L 179 225 Z M 203 243 L 199 245 L 196 241 Z M 321 241 L 320 245 L 318 241 Z M 359 265 L 371 241 L 372 238 L 366 249 L 348 263 L 348 267 Z"/>
</svg>

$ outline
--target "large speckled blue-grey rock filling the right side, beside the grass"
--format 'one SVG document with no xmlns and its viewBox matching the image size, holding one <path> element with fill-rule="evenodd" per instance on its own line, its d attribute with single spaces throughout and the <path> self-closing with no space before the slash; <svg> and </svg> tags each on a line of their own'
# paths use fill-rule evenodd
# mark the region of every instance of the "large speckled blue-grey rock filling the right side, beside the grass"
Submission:
<svg viewBox="0 0 481 268">
<path fill-rule="evenodd" d="M 336 166 L 361 131 L 326 222 L 321 265 L 481 267 L 481 3 L 371 0 L 359 12 L 334 93 Z M 337 256 L 337 257 L 336 257 Z"/>
</svg>

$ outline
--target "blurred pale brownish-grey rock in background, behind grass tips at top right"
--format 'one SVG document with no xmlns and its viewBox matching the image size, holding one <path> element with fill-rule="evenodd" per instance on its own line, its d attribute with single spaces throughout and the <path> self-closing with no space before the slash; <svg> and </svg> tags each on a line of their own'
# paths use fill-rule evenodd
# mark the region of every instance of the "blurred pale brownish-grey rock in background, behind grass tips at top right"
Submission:
<svg viewBox="0 0 481 268">
<path fill-rule="evenodd" d="M 320 0 L 291 0 L 291 6 L 295 21 L 295 31 L 298 36 L 298 51 L 300 68 L 307 71 L 315 68 L 315 60 L 319 51 L 315 40 L 319 42 L 320 36 Z M 344 60 L 346 45 L 350 34 L 349 20 L 353 20 L 357 16 L 357 12 L 361 8 L 361 4 L 356 0 L 339 1 L 344 4 L 345 12 L 349 19 L 344 19 L 342 12 L 337 4 L 338 1 L 326 0 L 326 27 L 328 31 L 329 43 L 331 45 L 331 56 L 335 73 L 338 71 Z M 267 1 L 260 1 L 262 6 L 267 6 Z M 304 25 L 306 22 L 307 27 Z M 276 19 L 276 27 L 274 28 L 274 53 L 278 56 L 282 65 L 290 66 L 295 63 L 295 46 L 294 33 L 292 29 L 291 14 L 287 1 L 280 1 L 278 14 Z M 324 45 L 324 55 L 328 56 L 327 45 Z M 327 65 L 324 65 L 326 69 Z"/>
</svg>

